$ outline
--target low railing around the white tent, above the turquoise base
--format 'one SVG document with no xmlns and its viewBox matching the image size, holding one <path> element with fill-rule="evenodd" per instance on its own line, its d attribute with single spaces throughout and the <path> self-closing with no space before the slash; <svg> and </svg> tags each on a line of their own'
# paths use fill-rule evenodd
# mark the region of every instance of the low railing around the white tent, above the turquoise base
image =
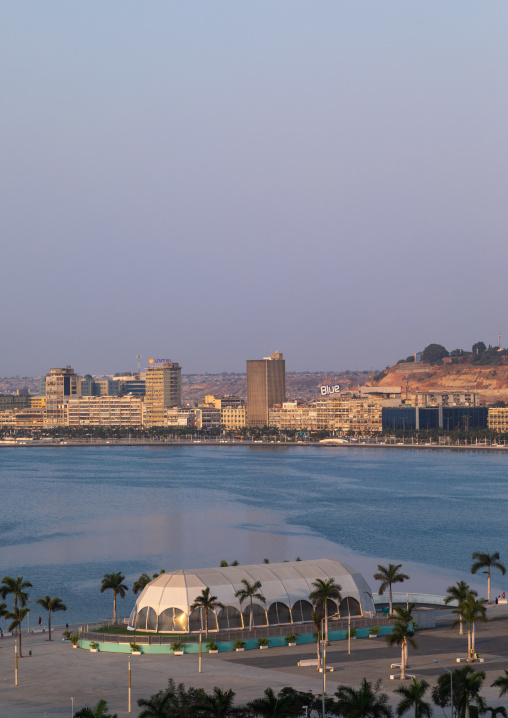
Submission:
<svg viewBox="0 0 508 718">
<path fill-rule="evenodd" d="M 353 628 L 370 628 L 371 626 L 390 626 L 393 621 L 389 618 L 377 618 L 368 619 L 356 616 L 351 616 L 351 627 Z M 105 621 L 97 624 L 88 624 L 79 631 L 79 637 L 84 641 L 97 641 L 98 643 L 117 643 L 117 644 L 128 644 L 128 643 L 139 643 L 141 645 L 148 646 L 162 646 L 175 643 L 177 640 L 184 640 L 185 643 L 198 643 L 199 633 L 191 634 L 143 634 L 136 631 L 132 631 L 131 635 L 120 634 L 120 633 L 102 633 L 97 628 L 104 626 Z M 110 621 L 108 625 L 113 625 Z M 118 625 L 118 621 L 117 621 Z M 92 626 L 95 630 L 92 629 Z M 332 631 L 347 631 L 348 620 L 339 619 L 331 620 L 328 624 L 330 632 Z M 208 631 L 208 638 L 214 641 L 236 641 L 237 638 L 242 640 L 256 639 L 256 638 L 269 638 L 271 636 L 287 636 L 290 633 L 299 633 L 300 635 L 308 635 L 316 632 L 316 627 L 313 623 L 288 623 L 282 626 L 259 626 L 257 628 L 242 629 L 236 628 L 229 631 Z M 202 633 L 204 638 L 204 632 Z"/>
</svg>

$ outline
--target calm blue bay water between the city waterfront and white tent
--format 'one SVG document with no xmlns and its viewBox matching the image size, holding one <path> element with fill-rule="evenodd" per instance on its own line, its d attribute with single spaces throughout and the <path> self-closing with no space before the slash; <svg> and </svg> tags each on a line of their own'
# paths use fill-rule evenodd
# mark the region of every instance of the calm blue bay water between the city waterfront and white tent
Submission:
<svg viewBox="0 0 508 718">
<path fill-rule="evenodd" d="M 329 556 L 371 582 L 404 562 L 409 591 L 469 580 L 473 551 L 501 553 L 508 456 L 308 447 L 0 450 L 0 573 L 60 596 L 57 620 L 111 614 L 104 573 Z M 469 575 L 468 575 L 469 574 Z M 479 588 L 482 594 L 483 577 Z M 474 583 L 474 581 L 473 581 Z M 508 583 L 508 581 L 507 581 Z M 478 585 L 478 584 L 477 584 Z M 494 590 L 504 590 L 495 577 Z M 120 601 L 127 615 L 132 593 Z M 39 611 L 34 607 L 32 620 Z"/>
</svg>

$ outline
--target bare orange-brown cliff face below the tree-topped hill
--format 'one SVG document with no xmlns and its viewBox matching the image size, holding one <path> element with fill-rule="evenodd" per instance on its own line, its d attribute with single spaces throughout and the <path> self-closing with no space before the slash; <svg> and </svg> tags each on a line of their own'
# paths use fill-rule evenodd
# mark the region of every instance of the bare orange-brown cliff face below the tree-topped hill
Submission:
<svg viewBox="0 0 508 718">
<path fill-rule="evenodd" d="M 381 372 L 379 379 L 369 383 L 372 386 L 400 386 L 404 399 L 406 382 L 409 399 L 417 391 L 455 389 L 479 392 L 480 401 L 486 404 L 508 402 L 508 366 L 505 365 L 403 363 Z"/>
</svg>

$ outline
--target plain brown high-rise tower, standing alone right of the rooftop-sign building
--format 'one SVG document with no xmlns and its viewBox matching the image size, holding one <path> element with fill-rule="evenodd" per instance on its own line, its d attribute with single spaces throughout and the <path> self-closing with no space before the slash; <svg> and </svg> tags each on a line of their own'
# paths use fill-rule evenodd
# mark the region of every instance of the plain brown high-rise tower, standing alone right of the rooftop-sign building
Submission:
<svg viewBox="0 0 508 718">
<path fill-rule="evenodd" d="M 247 360 L 247 426 L 268 426 L 268 410 L 286 400 L 286 362 L 282 352 Z"/>
</svg>

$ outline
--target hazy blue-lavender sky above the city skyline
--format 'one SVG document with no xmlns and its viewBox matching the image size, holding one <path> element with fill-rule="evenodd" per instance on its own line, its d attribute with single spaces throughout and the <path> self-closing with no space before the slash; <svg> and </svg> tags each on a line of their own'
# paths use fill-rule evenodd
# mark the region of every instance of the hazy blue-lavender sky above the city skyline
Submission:
<svg viewBox="0 0 508 718">
<path fill-rule="evenodd" d="M 506 0 L 4 1 L 0 376 L 507 346 L 507 22 Z"/>
</svg>

